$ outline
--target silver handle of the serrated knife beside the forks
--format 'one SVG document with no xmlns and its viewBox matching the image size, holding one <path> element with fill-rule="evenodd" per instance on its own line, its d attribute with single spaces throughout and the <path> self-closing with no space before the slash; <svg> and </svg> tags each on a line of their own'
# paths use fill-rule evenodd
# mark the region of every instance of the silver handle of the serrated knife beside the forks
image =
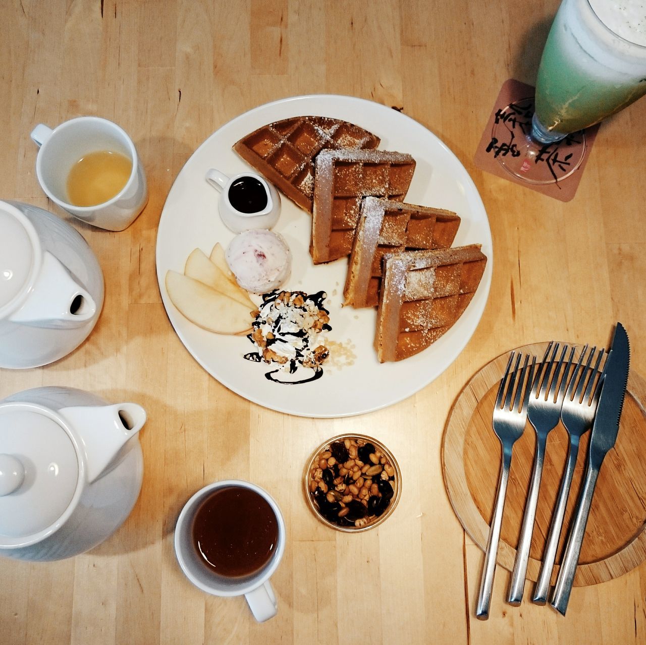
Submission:
<svg viewBox="0 0 646 645">
<path fill-rule="evenodd" d="M 578 502 L 576 517 L 574 518 L 574 523 L 572 524 L 570 534 L 567 538 L 565 555 L 563 555 L 563 562 L 561 562 L 559 575 L 556 578 L 554 594 L 550 601 L 552 607 L 554 607 L 554 609 L 563 616 L 565 616 L 565 611 L 570 600 L 574 574 L 576 573 L 576 567 L 579 564 L 579 555 L 581 554 L 581 546 L 583 545 L 585 526 L 588 523 L 590 506 L 592 505 L 592 495 L 594 495 L 594 487 L 596 486 L 598 476 L 599 469 L 588 466 L 585 473 L 585 484 L 583 484 L 583 490 L 581 491 L 581 497 Z"/>
</svg>

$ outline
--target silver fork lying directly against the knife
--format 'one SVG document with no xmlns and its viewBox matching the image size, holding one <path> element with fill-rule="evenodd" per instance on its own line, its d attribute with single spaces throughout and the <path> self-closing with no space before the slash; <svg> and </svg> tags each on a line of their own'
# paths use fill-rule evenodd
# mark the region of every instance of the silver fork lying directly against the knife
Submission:
<svg viewBox="0 0 646 645">
<path fill-rule="evenodd" d="M 552 515 L 552 523 L 547 536 L 547 543 L 545 551 L 543 552 L 543 564 L 541 564 L 541 572 L 539 573 L 536 582 L 536 589 L 534 589 L 534 597 L 532 600 L 537 604 L 544 605 L 547 602 L 547 593 L 550 588 L 550 578 L 552 577 L 552 568 L 554 568 L 554 560 L 556 559 L 556 549 L 559 544 L 559 537 L 561 537 L 561 528 L 563 527 L 563 516 L 565 515 L 565 507 L 567 506 L 568 496 L 570 495 L 570 484 L 572 484 L 572 475 L 574 475 L 574 467 L 576 466 L 576 458 L 579 454 L 579 440 L 581 435 L 586 433 L 594 422 L 594 414 L 597 410 L 597 403 L 599 401 L 599 393 L 601 392 L 601 379 L 599 377 L 599 365 L 603 358 L 604 351 L 600 349 L 597 353 L 597 348 L 592 347 L 589 354 L 588 345 L 583 347 L 581 356 L 574 367 L 574 372 L 570 378 L 570 382 L 563 398 L 563 407 L 561 407 L 561 421 L 565 426 L 570 437 L 570 445 L 568 447 L 567 462 L 563 478 L 561 478 L 561 486 L 556 498 L 556 506 L 554 507 L 554 514 Z M 587 354 L 587 361 L 585 366 L 583 361 Z M 596 362 L 592 367 L 592 361 L 596 354 Z"/>
</svg>

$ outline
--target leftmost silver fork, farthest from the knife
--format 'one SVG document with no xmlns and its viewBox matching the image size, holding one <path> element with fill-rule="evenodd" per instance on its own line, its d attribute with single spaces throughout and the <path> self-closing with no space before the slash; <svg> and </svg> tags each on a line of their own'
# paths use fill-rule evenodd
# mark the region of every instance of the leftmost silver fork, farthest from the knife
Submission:
<svg viewBox="0 0 646 645">
<path fill-rule="evenodd" d="M 500 440 L 502 464 L 495 497 L 494 516 L 486 543 L 485 564 L 480 580 L 480 593 L 475 613 L 479 620 L 486 620 L 489 617 L 491 593 L 494 588 L 495 560 L 498 553 L 500 528 L 503 522 L 503 509 L 505 508 L 509 469 L 512 465 L 512 447 L 525 429 L 527 399 L 529 397 L 532 380 L 534 379 L 534 368 L 536 367 L 536 356 L 533 356 L 532 364 L 528 369 L 529 354 L 527 354 L 522 369 L 519 369 L 523 356 L 523 354 L 519 353 L 517 354 L 516 364 L 512 369 L 514 354 L 512 351 L 509 356 L 505 376 L 503 376 L 503 380 L 501 380 L 498 388 L 492 422 L 494 432 Z M 517 379 L 518 375 L 519 378 Z M 518 381 L 517 385 L 516 380 Z M 516 388 L 514 389 L 515 385 Z"/>
</svg>

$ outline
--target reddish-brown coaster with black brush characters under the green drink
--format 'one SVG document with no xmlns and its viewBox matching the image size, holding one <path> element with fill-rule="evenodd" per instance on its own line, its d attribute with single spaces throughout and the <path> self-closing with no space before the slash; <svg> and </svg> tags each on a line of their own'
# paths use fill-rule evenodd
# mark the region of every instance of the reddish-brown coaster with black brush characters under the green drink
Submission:
<svg viewBox="0 0 646 645">
<path fill-rule="evenodd" d="M 534 88 L 515 79 L 505 81 L 475 152 L 477 168 L 537 190 L 557 200 L 570 201 L 592 150 L 599 125 L 568 134 L 562 141 L 542 146 L 534 159 L 525 159 L 520 179 L 506 166 L 523 154 L 532 129 Z M 534 167 L 536 166 L 536 167 Z"/>
</svg>

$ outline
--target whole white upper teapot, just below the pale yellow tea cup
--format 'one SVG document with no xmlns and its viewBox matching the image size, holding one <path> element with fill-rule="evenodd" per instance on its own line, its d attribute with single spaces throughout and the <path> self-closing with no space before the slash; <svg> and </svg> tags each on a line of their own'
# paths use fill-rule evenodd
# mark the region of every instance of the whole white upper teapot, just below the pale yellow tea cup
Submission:
<svg viewBox="0 0 646 645">
<path fill-rule="evenodd" d="M 0 367 L 63 358 L 102 306 L 103 274 L 83 237 L 47 210 L 0 201 Z"/>
</svg>

